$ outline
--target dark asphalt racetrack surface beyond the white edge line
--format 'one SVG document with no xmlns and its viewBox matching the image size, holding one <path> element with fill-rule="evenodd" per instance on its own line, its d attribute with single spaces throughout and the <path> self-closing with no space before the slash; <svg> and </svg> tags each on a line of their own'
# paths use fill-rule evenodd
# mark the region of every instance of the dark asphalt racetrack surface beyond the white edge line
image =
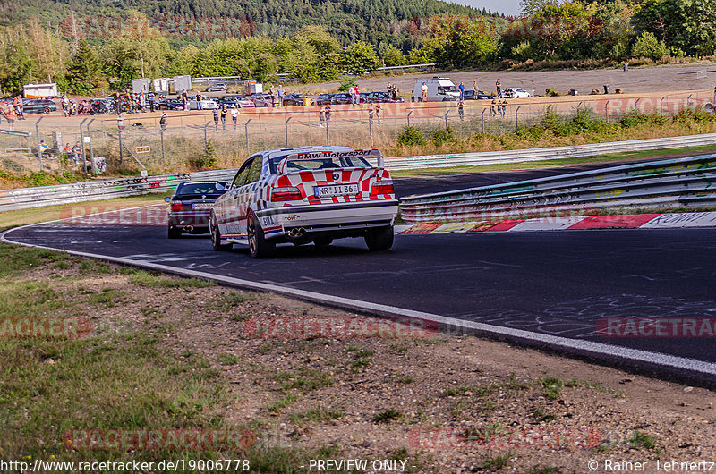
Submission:
<svg viewBox="0 0 716 474">
<path fill-rule="evenodd" d="M 403 179 L 396 191 L 499 178 Z M 595 331 L 603 317 L 716 318 L 716 229 L 398 235 L 388 252 L 344 239 L 320 250 L 279 246 L 268 260 L 241 248 L 214 252 L 207 237 L 170 241 L 163 226 L 45 224 L 7 237 L 716 362 L 713 338 L 606 339 Z"/>
</svg>

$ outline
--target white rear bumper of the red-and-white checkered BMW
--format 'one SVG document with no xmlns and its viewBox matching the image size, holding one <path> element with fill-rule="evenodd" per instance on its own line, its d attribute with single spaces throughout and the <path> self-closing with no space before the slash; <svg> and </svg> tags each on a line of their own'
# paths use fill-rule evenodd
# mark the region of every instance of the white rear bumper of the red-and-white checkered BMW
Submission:
<svg viewBox="0 0 716 474">
<path fill-rule="evenodd" d="M 392 225 L 397 199 L 316 204 L 264 209 L 257 213 L 266 239 L 291 238 L 296 233 L 347 235 Z"/>
</svg>

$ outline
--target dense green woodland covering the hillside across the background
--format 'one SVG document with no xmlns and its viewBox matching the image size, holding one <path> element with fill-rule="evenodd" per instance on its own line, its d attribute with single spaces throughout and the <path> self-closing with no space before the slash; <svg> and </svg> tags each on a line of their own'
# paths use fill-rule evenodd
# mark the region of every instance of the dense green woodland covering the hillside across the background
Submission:
<svg viewBox="0 0 716 474">
<path fill-rule="evenodd" d="M 310 82 L 380 65 L 603 67 L 716 53 L 716 0 L 523 0 L 520 18 L 436 0 L 43 5 L 0 4 L 4 95 L 28 82 L 86 94 L 177 74 Z"/>
</svg>

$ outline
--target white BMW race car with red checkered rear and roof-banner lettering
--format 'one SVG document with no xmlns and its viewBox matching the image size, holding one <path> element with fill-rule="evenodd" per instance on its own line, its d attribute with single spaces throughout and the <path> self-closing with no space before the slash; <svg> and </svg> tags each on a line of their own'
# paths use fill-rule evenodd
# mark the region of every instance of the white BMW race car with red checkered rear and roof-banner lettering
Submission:
<svg viewBox="0 0 716 474">
<path fill-rule="evenodd" d="M 209 217 L 211 242 L 214 250 L 248 245 L 253 258 L 269 257 L 280 242 L 323 246 L 342 237 L 363 237 L 370 250 L 388 250 L 397 204 L 378 150 L 261 151 L 217 199 Z"/>
</svg>

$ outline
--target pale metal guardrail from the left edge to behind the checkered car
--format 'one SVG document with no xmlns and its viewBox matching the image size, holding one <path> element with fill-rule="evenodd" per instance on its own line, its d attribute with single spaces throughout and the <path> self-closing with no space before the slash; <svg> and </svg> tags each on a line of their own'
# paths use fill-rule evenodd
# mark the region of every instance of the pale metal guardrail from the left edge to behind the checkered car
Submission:
<svg viewBox="0 0 716 474">
<path fill-rule="evenodd" d="M 0 212 L 99 199 L 139 196 L 150 192 L 166 192 L 167 190 L 175 189 L 179 182 L 192 180 L 226 181 L 234 178 L 234 174 L 236 174 L 236 170 L 229 169 L 0 190 Z"/>
</svg>

